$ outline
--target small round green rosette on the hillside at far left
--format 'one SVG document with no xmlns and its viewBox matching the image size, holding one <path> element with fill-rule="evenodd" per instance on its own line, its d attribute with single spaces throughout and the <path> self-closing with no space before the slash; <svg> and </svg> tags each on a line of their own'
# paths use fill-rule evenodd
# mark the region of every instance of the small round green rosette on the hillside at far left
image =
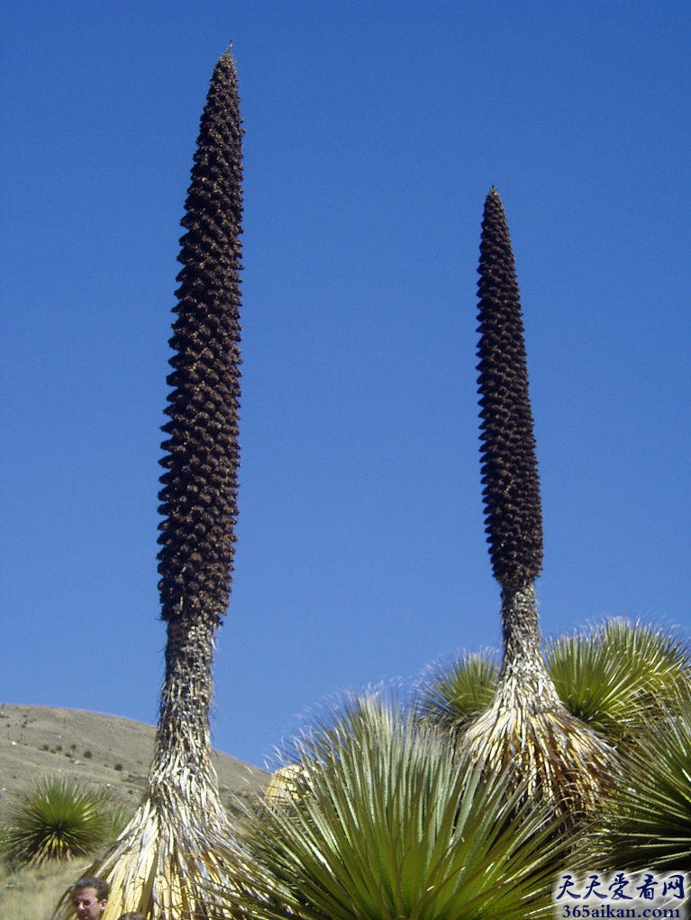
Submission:
<svg viewBox="0 0 691 920">
<path fill-rule="evenodd" d="M 43 779 L 10 812 L 6 855 L 18 865 L 85 856 L 116 837 L 126 818 L 99 791 L 66 776 Z"/>
</svg>

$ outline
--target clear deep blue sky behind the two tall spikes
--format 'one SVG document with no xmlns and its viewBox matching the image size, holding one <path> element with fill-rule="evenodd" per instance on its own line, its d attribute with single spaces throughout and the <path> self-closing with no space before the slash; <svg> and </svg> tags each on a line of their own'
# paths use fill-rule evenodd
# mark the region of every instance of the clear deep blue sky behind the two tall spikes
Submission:
<svg viewBox="0 0 691 920">
<path fill-rule="evenodd" d="M 240 523 L 214 740 L 498 647 L 475 383 L 487 190 L 516 257 L 542 625 L 691 631 L 691 7 L 4 5 L 0 702 L 155 722 L 180 219 L 232 41 Z"/>
</svg>

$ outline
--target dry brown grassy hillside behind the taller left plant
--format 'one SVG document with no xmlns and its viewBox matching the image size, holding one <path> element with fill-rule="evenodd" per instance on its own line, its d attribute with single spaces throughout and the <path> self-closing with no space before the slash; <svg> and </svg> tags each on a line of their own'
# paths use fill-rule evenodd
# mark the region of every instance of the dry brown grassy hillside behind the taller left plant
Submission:
<svg viewBox="0 0 691 920">
<path fill-rule="evenodd" d="M 24 789 L 42 776 L 74 776 L 108 788 L 134 811 L 151 760 L 155 730 L 143 722 L 82 709 L 0 704 L 0 822 Z M 252 798 L 268 774 L 215 752 L 221 799 Z"/>
</svg>

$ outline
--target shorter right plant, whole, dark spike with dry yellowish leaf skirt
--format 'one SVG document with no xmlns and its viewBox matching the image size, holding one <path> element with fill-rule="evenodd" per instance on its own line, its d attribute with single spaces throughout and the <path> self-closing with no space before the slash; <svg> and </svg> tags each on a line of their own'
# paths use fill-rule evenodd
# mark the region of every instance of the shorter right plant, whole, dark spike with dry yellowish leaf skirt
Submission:
<svg viewBox="0 0 691 920">
<path fill-rule="evenodd" d="M 491 706 L 465 735 L 490 770 L 527 779 L 531 794 L 580 812 L 597 797 L 611 749 L 571 716 L 542 653 L 534 581 L 542 511 L 519 289 L 498 191 L 486 197 L 478 268 L 477 354 L 486 534 L 501 586 L 503 658 Z"/>
</svg>

